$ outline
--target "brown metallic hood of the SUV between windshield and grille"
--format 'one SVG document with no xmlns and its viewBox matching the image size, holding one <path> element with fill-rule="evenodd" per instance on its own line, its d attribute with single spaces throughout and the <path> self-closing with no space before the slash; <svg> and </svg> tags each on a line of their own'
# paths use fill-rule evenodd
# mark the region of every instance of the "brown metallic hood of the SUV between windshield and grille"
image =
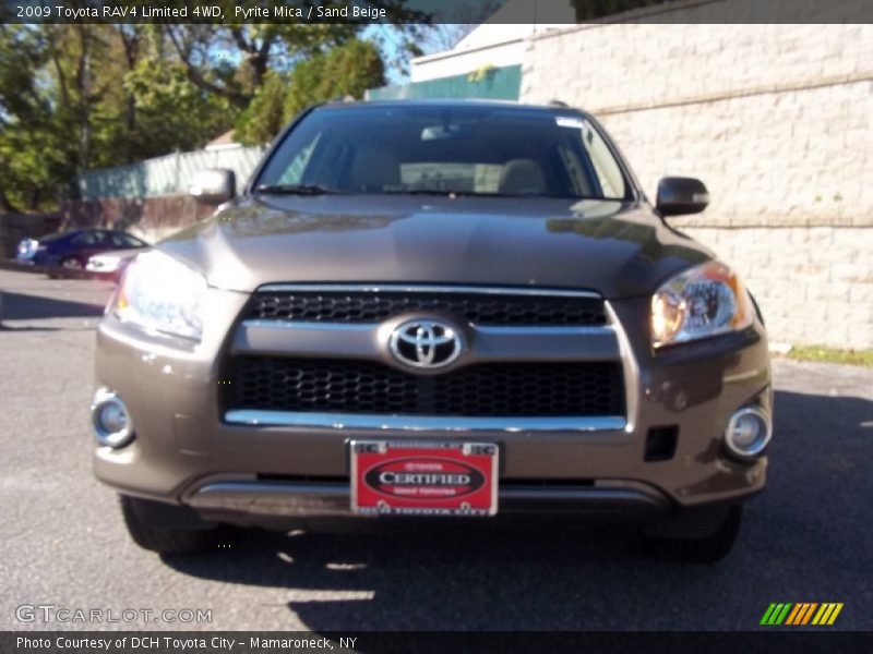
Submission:
<svg viewBox="0 0 873 654">
<path fill-rule="evenodd" d="M 651 293 L 711 253 L 647 205 L 422 196 L 243 198 L 159 249 L 210 284 L 421 282 Z"/>
</svg>

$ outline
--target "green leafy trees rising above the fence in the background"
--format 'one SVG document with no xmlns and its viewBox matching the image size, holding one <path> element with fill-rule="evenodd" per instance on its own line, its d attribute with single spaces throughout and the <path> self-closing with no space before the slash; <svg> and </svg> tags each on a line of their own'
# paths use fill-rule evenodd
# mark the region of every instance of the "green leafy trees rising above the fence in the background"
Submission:
<svg viewBox="0 0 873 654">
<path fill-rule="evenodd" d="M 135 0 L 131 0 L 135 1 Z M 217 0 L 230 15 L 282 0 Z M 395 27 L 427 16 L 369 2 Z M 177 149 L 235 124 L 272 138 L 301 107 L 384 83 L 363 23 L 33 24 L 0 22 L 0 211 L 56 206 L 75 175 Z M 419 27 L 396 27 L 407 45 Z"/>
</svg>

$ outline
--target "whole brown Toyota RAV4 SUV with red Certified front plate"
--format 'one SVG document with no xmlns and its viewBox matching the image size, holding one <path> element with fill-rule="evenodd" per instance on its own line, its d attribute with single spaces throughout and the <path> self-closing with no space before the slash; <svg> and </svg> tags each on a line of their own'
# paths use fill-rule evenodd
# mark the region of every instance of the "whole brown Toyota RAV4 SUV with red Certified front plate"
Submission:
<svg viewBox="0 0 873 654">
<path fill-rule="evenodd" d="M 734 271 L 564 106 L 325 105 L 205 222 L 140 254 L 98 329 L 97 477 L 133 540 L 220 524 L 606 513 L 693 561 L 765 483 L 772 388 Z M 432 523 L 432 520 L 429 521 Z"/>
</svg>

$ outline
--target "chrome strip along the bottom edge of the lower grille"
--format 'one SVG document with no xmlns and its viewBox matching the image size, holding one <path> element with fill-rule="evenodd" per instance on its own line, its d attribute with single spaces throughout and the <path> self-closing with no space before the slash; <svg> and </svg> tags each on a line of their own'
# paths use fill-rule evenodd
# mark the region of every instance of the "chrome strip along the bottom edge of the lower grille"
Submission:
<svg viewBox="0 0 873 654">
<path fill-rule="evenodd" d="M 622 431 L 620 415 L 572 417 L 441 417 L 434 415 L 374 415 L 364 413 L 298 413 L 231 409 L 225 412 L 231 425 L 259 427 L 307 427 L 330 429 L 398 429 L 403 432 L 601 432 Z"/>
</svg>

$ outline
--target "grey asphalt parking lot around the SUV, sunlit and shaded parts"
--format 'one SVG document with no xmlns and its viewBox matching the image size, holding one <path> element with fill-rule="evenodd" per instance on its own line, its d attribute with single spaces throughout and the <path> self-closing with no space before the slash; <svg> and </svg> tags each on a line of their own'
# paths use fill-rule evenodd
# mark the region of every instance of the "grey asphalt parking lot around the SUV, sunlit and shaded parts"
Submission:
<svg viewBox="0 0 873 654">
<path fill-rule="evenodd" d="M 873 370 L 777 360 L 769 486 L 714 567 L 653 561 L 597 525 L 252 532 L 200 558 L 129 542 L 91 475 L 94 328 L 111 287 L 0 270 L 0 628 L 754 629 L 772 602 L 873 629 Z M 766 310 L 766 307 L 765 307 Z M 21 621 L 21 605 L 208 609 L 211 621 Z"/>
</svg>

